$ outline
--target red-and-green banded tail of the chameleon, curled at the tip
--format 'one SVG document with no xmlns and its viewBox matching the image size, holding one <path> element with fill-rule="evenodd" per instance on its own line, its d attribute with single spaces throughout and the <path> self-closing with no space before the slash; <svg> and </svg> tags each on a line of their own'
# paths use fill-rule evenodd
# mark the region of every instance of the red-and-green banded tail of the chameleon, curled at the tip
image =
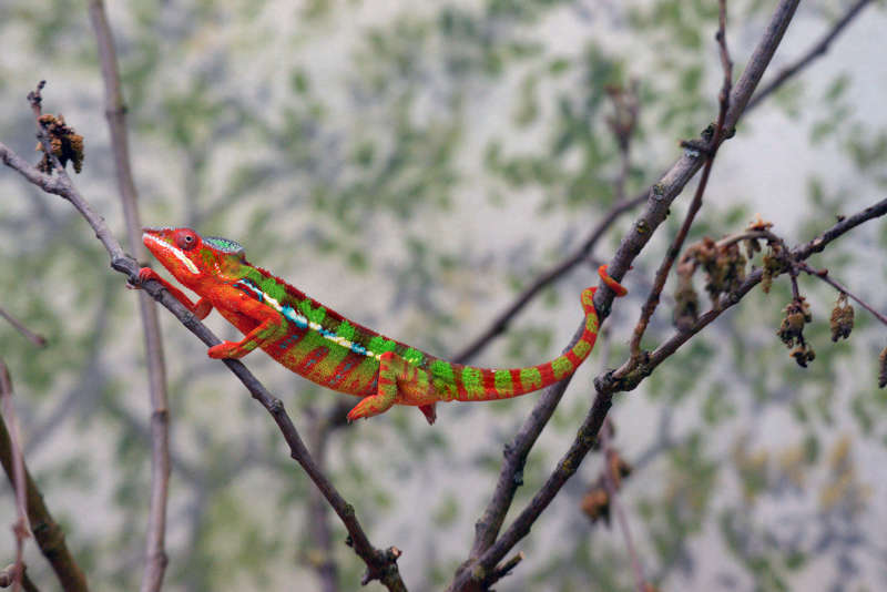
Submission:
<svg viewBox="0 0 887 592">
<path fill-rule="evenodd" d="M 615 279 L 606 275 L 606 265 L 598 269 L 601 279 L 616 296 L 624 296 L 628 290 Z M 598 338 L 598 312 L 594 309 L 597 288 L 582 290 L 582 308 L 585 312 L 585 328 L 582 336 L 568 351 L 551 361 L 527 368 L 495 370 L 491 368 L 462 367 L 455 372 L 461 378 L 458 385 L 458 400 L 487 401 L 509 399 L 549 387 L 573 374 L 579 365 L 591 354 Z"/>
</svg>

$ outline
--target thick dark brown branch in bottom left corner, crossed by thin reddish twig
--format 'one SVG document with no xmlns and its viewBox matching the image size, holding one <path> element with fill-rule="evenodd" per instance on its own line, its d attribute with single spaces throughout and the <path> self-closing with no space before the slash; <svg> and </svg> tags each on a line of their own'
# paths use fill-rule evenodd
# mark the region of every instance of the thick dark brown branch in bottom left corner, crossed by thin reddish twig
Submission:
<svg viewBox="0 0 887 592">
<path fill-rule="evenodd" d="M 6 422 L 0 417 L 0 463 L 10 482 L 14 482 L 14 467 L 12 462 L 12 441 Z M 23 463 L 23 461 L 22 461 Z M 37 488 L 28 467 L 23 466 L 24 491 L 28 500 L 28 519 L 34 535 L 34 541 L 40 552 L 47 558 L 52 570 L 59 579 L 61 588 L 69 592 L 86 592 L 86 579 L 71 557 L 64 542 L 64 532 L 49 513 L 43 501 L 43 494 Z"/>
</svg>

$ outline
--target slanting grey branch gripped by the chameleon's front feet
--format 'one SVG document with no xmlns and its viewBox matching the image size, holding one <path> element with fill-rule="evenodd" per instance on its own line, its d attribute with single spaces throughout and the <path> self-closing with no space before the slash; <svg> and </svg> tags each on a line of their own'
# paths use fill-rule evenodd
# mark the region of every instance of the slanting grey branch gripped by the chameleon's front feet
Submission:
<svg viewBox="0 0 887 592">
<path fill-rule="evenodd" d="M 92 208 L 89 202 L 83 198 L 63 169 L 57 169 L 58 176 L 43 174 L 29 165 L 23 159 L 2 143 L 0 143 L 0 159 L 2 159 L 8 166 L 21 173 L 28 181 L 70 202 L 78 212 L 83 215 L 95 232 L 95 236 L 102 245 L 104 245 L 111 258 L 111 267 L 124 274 L 131 283 L 134 284 L 139 282 L 139 269 L 141 266 L 135 259 L 123 252 L 120 243 L 111 234 L 111 229 L 105 224 L 104 218 L 102 218 Z M 203 323 L 191 314 L 179 300 L 171 296 L 160 283 L 154 280 L 147 282 L 142 285 L 142 289 L 160 302 L 161 305 L 169 309 L 204 344 L 214 346 L 222 343 L 218 337 L 203 325 Z M 390 591 L 406 590 L 400 574 L 397 571 L 397 558 L 400 555 L 400 551 L 394 547 L 387 550 L 379 550 L 373 547 L 355 516 L 354 508 L 345 501 L 326 474 L 317 467 L 307 448 L 305 448 L 305 443 L 298 430 L 293 425 L 293 420 L 287 415 L 283 401 L 268 392 L 264 385 L 262 385 L 239 360 L 224 359 L 221 361 L 241 380 L 253 398 L 262 404 L 268 414 L 271 414 L 287 445 L 289 445 L 289 456 L 308 473 L 308 477 L 314 481 L 345 524 L 355 552 L 367 564 L 367 574 L 365 579 L 367 581 L 378 579 Z"/>
</svg>

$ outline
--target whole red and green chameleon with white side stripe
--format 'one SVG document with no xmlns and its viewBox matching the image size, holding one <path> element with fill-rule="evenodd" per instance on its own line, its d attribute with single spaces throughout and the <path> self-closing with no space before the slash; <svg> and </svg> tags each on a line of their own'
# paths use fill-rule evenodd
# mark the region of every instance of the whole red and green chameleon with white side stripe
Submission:
<svg viewBox="0 0 887 592">
<path fill-rule="evenodd" d="M 211 358 L 242 358 L 263 349 L 289 370 L 320 386 L 361 398 L 348 421 L 383 414 L 394 405 L 418 407 L 429 423 L 438 401 L 488 401 L 540 390 L 573 374 L 598 337 L 594 292 L 582 292 L 582 336 L 561 356 L 526 368 L 462 366 L 396 341 L 327 308 L 279 277 L 246 261 L 244 247 L 228 238 L 202 237 L 191 228 L 144 228 L 142 242 L 185 287 L 194 303 L 150 267 L 141 267 L 140 287 L 155 279 L 194 316 L 215 308 L 244 337 L 212 346 Z M 598 269 L 616 294 L 628 290 Z"/>
</svg>

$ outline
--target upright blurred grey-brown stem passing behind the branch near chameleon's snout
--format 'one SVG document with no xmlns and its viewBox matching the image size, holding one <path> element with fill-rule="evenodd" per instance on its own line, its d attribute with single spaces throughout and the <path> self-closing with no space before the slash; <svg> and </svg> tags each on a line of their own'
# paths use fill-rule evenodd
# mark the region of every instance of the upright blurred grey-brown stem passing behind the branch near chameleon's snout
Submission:
<svg viewBox="0 0 887 592">
<path fill-rule="evenodd" d="M 142 224 L 139 216 L 139 195 L 130 163 L 130 146 L 126 133 L 126 106 L 118 72 L 114 37 L 108 23 L 102 0 L 92 0 L 89 6 L 90 21 L 95 31 L 99 61 L 104 81 L 105 116 L 111 132 L 114 170 L 118 190 L 126 221 L 130 252 L 144 256 L 141 245 Z M 165 550 L 166 500 L 170 488 L 170 410 L 166 396 L 166 366 L 163 359 L 163 340 L 160 335 L 157 308 L 147 294 L 139 295 L 139 313 L 147 360 L 149 396 L 151 400 L 151 502 L 145 541 L 145 564 L 141 592 L 156 592 L 163 584 L 169 558 Z"/>
</svg>

